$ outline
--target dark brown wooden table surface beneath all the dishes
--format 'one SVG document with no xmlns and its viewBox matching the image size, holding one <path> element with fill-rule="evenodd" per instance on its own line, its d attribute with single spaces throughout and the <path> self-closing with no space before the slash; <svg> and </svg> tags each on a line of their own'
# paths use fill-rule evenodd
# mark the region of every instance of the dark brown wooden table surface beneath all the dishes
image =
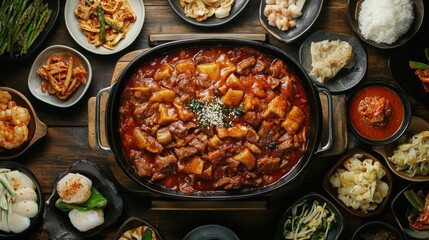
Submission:
<svg viewBox="0 0 429 240">
<path fill-rule="evenodd" d="M 154 196 L 145 191 L 132 191 L 133 183 L 120 172 L 121 170 L 117 168 L 110 154 L 90 148 L 88 141 L 88 100 L 95 96 L 100 89 L 109 86 L 114 66 L 121 56 L 134 50 L 148 48 L 148 37 L 151 34 L 268 34 L 258 19 L 260 1 L 250 0 L 244 11 L 236 19 L 224 26 L 204 29 L 183 21 L 165 0 L 145 0 L 146 17 L 139 37 L 125 50 L 108 56 L 88 52 L 71 38 L 64 22 L 65 1 L 60 2 L 61 10 L 57 24 L 39 51 L 50 45 L 63 44 L 77 49 L 89 59 L 93 67 L 93 80 L 84 98 L 73 107 L 60 109 L 47 105 L 33 97 L 27 86 L 27 77 L 34 58 L 19 63 L 0 62 L 0 86 L 14 88 L 27 96 L 39 118 L 49 127 L 46 137 L 15 160 L 26 165 L 34 172 L 42 185 L 45 199 L 50 196 L 53 182 L 57 175 L 81 159 L 97 163 L 118 186 L 124 200 L 123 214 L 113 226 L 93 239 L 112 239 L 119 226 L 130 216 L 140 217 L 150 222 L 167 240 L 182 239 L 190 230 L 204 224 L 224 225 L 232 229 L 240 239 L 272 239 L 281 215 L 298 198 L 309 192 L 317 192 L 328 196 L 321 187 L 321 179 L 326 170 L 339 158 L 338 156 L 324 158 L 315 156 L 311 160 L 311 165 L 303 174 L 300 183 L 288 188 L 287 191 L 257 199 L 231 202 L 229 204 L 234 206 L 232 209 L 219 209 L 217 207 L 225 204 L 213 203 L 212 208 L 202 210 L 199 206 L 205 203 L 175 201 Z M 323 29 L 335 33 L 353 34 L 348 23 L 346 9 L 346 0 L 325 1 L 320 17 L 309 33 Z M 423 30 L 427 32 L 428 29 L 428 20 L 425 20 L 419 34 L 422 34 Z M 286 50 L 297 58 L 300 44 L 306 36 L 308 36 L 308 33 L 298 41 L 289 44 L 282 43 L 269 36 L 269 43 Z M 375 49 L 366 44 L 363 44 L 363 46 L 368 54 L 368 71 L 364 81 L 377 79 L 397 85 L 388 68 L 389 56 L 395 52 Z M 409 96 L 409 100 L 412 105 L 412 114 L 429 121 L 429 109 L 417 102 L 412 96 Z M 359 146 L 370 150 L 369 146 L 362 144 L 359 144 Z M 114 169 L 114 176 L 111 169 Z M 395 177 L 393 194 L 406 184 L 406 181 Z M 390 211 L 390 200 L 388 207 L 385 208 L 382 214 L 371 219 L 354 217 L 340 208 L 345 219 L 345 226 L 340 239 L 351 239 L 354 230 L 370 220 L 382 220 L 397 226 Z M 257 207 L 239 208 L 239 206 L 253 206 L 249 203 L 255 203 Z M 168 209 L 166 206 L 176 206 L 177 208 Z M 40 221 L 38 228 L 28 236 L 28 239 L 47 238 L 49 236 L 43 231 L 42 221 Z"/>
</svg>

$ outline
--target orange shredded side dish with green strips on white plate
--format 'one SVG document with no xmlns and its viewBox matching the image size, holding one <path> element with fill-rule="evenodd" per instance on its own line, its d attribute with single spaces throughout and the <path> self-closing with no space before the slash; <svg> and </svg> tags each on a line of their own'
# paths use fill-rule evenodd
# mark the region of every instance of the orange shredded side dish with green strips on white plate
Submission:
<svg viewBox="0 0 429 240">
<path fill-rule="evenodd" d="M 137 19 L 127 0 L 79 0 L 75 15 L 88 43 L 107 49 L 114 49 Z"/>
</svg>

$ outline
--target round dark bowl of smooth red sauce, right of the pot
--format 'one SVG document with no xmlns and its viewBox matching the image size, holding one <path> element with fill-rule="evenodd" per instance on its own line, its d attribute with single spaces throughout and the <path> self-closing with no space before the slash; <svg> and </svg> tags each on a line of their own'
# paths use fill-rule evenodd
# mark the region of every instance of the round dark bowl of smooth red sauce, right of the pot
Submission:
<svg viewBox="0 0 429 240">
<path fill-rule="evenodd" d="M 382 126 L 370 124 L 362 118 L 359 105 L 365 98 L 384 98 L 384 101 L 388 101 L 389 114 Z M 369 108 L 371 111 L 371 108 L 377 107 L 371 105 Z M 411 106 L 400 88 L 388 82 L 371 81 L 361 84 L 347 97 L 347 114 L 349 128 L 360 141 L 370 145 L 385 145 L 396 141 L 405 132 L 411 119 Z"/>
</svg>

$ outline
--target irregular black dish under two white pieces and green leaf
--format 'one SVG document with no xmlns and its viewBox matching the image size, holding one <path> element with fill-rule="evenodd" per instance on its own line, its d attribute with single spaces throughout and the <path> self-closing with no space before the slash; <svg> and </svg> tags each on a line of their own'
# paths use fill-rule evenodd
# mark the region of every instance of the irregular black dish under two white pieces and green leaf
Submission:
<svg viewBox="0 0 429 240">
<path fill-rule="evenodd" d="M 57 183 L 68 173 L 80 173 L 88 177 L 94 186 L 104 197 L 107 198 L 107 206 L 103 209 L 104 223 L 86 232 L 80 232 L 70 222 L 68 213 L 60 211 L 55 202 L 59 198 L 56 190 Z M 43 228 L 47 230 L 53 239 L 85 239 L 94 236 L 103 229 L 111 226 L 122 214 L 123 202 L 115 185 L 103 174 L 101 169 L 93 162 L 80 160 L 69 170 L 61 173 L 54 183 L 52 195 L 45 202 L 43 213 Z"/>
</svg>

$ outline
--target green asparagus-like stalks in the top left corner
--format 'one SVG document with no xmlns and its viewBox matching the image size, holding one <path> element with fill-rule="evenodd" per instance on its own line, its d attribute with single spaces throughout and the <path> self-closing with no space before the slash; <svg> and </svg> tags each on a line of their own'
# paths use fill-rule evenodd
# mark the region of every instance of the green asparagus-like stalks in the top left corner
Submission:
<svg viewBox="0 0 429 240">
<path fill-rule="evenodd" d="M 43 0 L 2 0 L 0 3 L 0 56 L 27 54 L 45 28 L 52 9 Z"/>
</svg>

